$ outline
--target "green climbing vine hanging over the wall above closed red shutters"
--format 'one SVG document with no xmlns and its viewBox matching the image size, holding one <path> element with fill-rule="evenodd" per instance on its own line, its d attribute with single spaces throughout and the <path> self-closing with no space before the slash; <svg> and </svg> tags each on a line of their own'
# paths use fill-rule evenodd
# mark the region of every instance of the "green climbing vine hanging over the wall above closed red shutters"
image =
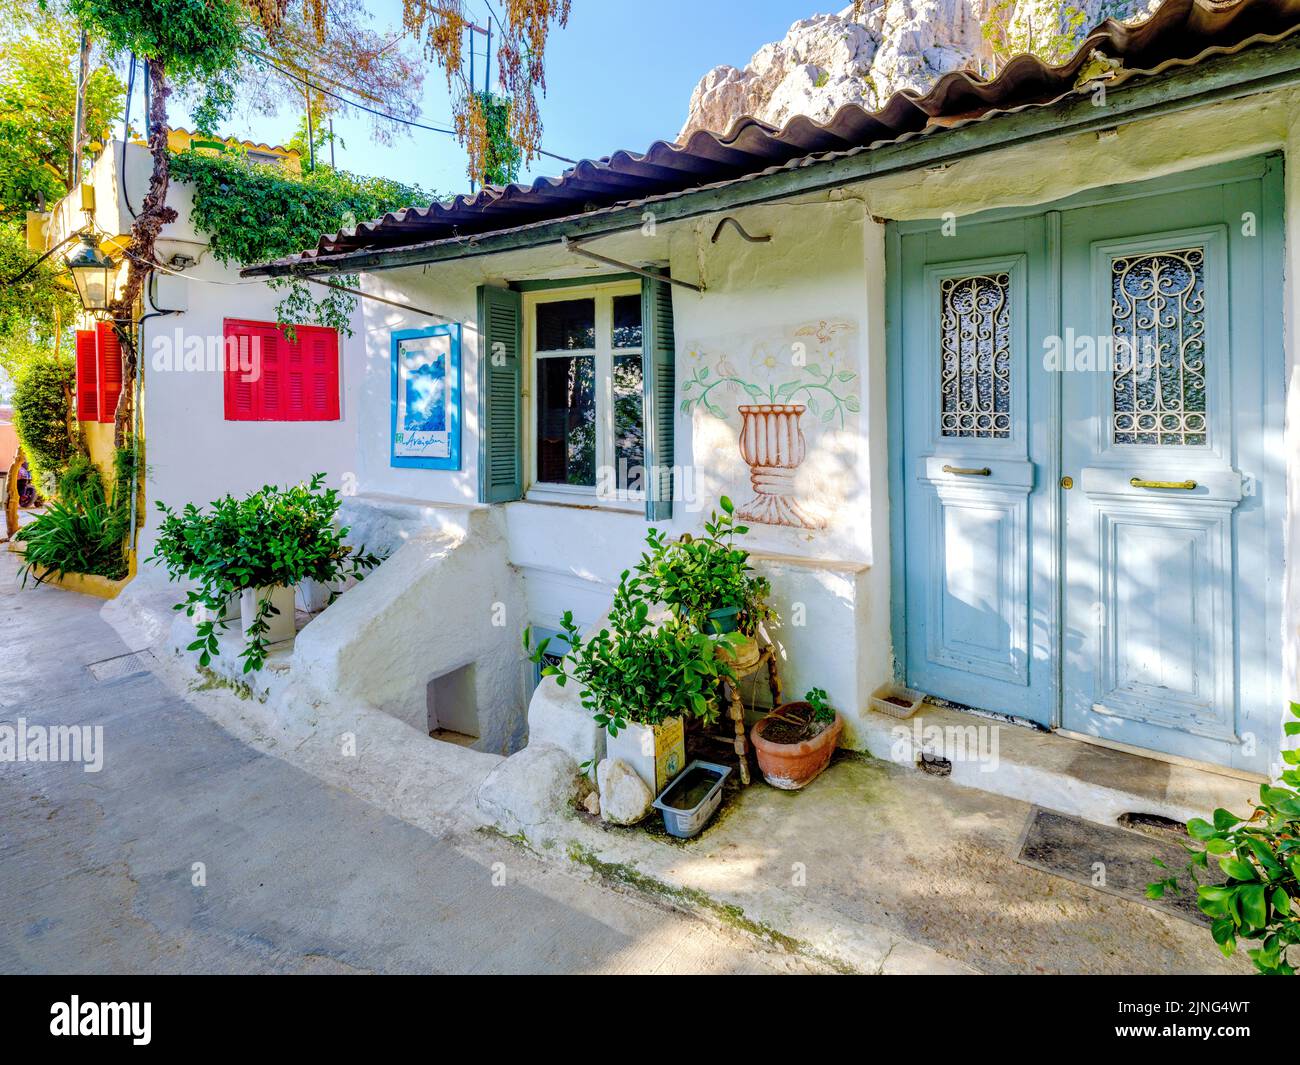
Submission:
<svg viewBox="0 0 1300 1065">
<path fill-rule="evenodd" d="M 359 177 L 330 166 L 294 174 L 276 164 L 251 163 L 239 152 L 172 155 L 172 176 L 194 186 L 191 217 L 221 263 L 251 265 L 312 247 L 321 233 L 335 233 L 436 194 L 389 178 Z M 299 278 L 274 278 L 286 289 L 277 307 L 281 324 L 315 322 L 351 335 L 354 296 L 317 294 Z M 352 286 L 354 278 L 338 278 Z"/>
</svg>

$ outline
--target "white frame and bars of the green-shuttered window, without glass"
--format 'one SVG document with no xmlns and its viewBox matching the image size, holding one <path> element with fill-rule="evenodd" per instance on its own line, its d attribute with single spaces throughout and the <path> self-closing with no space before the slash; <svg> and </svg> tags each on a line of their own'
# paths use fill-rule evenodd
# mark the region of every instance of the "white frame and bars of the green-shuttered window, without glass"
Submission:
<svg viewBox="0 0 1300 1065">
<path fill-rule="evenodd" d="M 524 498 L 541 503 L 567 503 L 571 506 L 602 506 L 619 510 L 640 511 L 645 507 L 644 488 L 637 492 L 601 494 L 601 471 L 614 466 L 614 359 L 619 355 L 641 355 L 645 347 L 614 347 L 614 299 L 615 296 L 641 295 L 641 282 L 611 281 L 603 285 L 575 285 L 555 289 L 541 289 L 524 294 L 524 351 L 528 352 L 526 382 L 524 385 L 524 447 L 526 456 L 524 468 L 528 472 L 528 489 Z M 568 348 L 563 351 L 537 350 L 537 308 L 543 303 L 563 303 L 575 299 L 595 300 L 595 347 Z M 641 324 L 642 335 L 645 322 Z M 537 479 L 537 362 L 547 358 L 595 358 L 595 485 L 560 485 L 538 481 Z M 644 372 L 644 369 L 642 369 Z M 642 425 L 645 423 L 645 399 L 641 406 Z M 642 475 L 644 476 L 644 475 Z"/>
</svg>

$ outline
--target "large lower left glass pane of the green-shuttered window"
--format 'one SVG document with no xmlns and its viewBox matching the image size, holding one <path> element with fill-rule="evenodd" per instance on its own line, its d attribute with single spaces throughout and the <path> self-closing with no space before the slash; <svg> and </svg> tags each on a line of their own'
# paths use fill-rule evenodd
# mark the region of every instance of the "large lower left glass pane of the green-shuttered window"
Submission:
<svg viewBox="0 0 1300 1065">
<path fill-rule="evenodd" d="M 595 486 L 595 359 L 537 360 L 537 480 Z"/>
</svg>

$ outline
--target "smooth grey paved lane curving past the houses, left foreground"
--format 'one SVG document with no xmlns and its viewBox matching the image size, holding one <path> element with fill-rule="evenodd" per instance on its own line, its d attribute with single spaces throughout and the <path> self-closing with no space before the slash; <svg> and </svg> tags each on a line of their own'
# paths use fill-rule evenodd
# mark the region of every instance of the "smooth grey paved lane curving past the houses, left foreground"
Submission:
<svg viewBox="0 0 1300 1065">
<path fill-rule="evenodd" d="M 399 821 L 150 672 L 95 680 L 88 663 L 133 650 L 101 603 L 16 572 L 0 547 L 0 722 L 101 724 L 105 761 L 0 763 L 3 973 L 816 970 L 502 840 Z"/>
</svg>

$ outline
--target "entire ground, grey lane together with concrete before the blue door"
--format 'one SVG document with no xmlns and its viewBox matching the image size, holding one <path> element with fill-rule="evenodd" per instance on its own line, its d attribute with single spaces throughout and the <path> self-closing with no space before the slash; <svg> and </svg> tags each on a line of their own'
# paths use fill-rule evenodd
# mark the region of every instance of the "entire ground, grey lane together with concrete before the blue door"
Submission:
<svg viewBox="0 0 1300 1065">
<path fill-rule="evenodd" d="M 542 853 L 636 888 L 611 891 L 474 828 L 490 756 L 377 711 L 280 720 L 170 657 L 96 681 L 87 663 L 143 637 L 14 570 L 0 551 L 0 720 L 100 723 L 107 762 L 0 763 L 0 971 L 818 969 L 638 891 L 858 971 L 1251 971 L 1199 926 L 1015 862 L 1028 804 L 852 754 L 805 792 L 755 783 L 685 844 L 559 824 Z M 363 757 L 338 757 L 343 731 Z"/>
</svg>

